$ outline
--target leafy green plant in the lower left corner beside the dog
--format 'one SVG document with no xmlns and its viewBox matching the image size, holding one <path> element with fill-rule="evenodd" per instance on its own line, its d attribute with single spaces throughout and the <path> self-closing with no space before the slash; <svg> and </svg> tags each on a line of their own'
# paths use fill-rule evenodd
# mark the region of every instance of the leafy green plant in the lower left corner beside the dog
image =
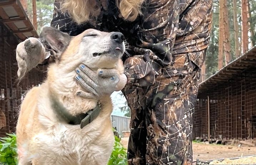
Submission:
<svg viewBox="0 0 256 165">
<path fill-rule="evenodd" d="M 6 134 L 0 138 L 0 162 L 1 165 L 17 165 L 16 134 Z"/>
</svg>

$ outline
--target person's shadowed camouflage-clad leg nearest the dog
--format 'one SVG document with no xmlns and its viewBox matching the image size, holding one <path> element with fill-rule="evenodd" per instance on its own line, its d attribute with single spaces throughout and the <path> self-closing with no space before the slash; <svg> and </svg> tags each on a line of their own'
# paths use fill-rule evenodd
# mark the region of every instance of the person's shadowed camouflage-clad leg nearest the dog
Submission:
<svg viewBox="0 0 256 165">
<path fill-rule="evenodd" d="M 130 138 L 128 144 L 128 164 L 145 164 L 146 125 L 145 125 L 145 92 L 135 86 L 126 86 L 125 96 L 131 108 Z"/>
</svg>

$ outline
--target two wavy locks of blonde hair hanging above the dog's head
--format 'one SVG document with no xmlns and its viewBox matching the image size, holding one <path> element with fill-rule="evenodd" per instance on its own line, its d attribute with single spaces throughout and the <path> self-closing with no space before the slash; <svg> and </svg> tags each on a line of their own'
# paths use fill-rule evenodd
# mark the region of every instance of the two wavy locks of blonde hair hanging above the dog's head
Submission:
<svg viewBox="0 0 256 165">
<path fill-rule="evenodd" d="M 134 21 L 141 14 L 141 5 L 144 0 L 116 0 L 122 17 Z M 61 10 L 67 11 L 73 20 L 81 24 L 89 20 L 90 16 L 97 16 L 100 9 L 95 8 L 95 0 L 64 0 Z"/>
</svg>

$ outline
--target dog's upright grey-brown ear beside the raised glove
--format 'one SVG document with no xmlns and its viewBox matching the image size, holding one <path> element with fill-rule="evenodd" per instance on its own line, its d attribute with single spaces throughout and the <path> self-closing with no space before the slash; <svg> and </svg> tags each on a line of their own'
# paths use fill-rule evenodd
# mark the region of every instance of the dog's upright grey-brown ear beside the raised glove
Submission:
<svg viewBox="0 0 256 165">
<path fill-rule="evenodd" d="M 50 45 L 54 51 L 55 58 L 60 58 L 59 56 L 67 48 L 71 40 L 69 34 L 63 33 L 53 27 L 44 27 L 40 36 Z"/>
</svg>

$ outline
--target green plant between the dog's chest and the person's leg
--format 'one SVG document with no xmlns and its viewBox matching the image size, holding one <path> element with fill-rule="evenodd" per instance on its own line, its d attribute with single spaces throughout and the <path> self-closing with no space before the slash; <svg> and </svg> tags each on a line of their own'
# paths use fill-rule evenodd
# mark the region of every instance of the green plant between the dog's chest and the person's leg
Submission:
<svg viewBox="0 0 256 165">
<path fill-rule="evenodd" d="M 115 136 L 115 144 L 107 165 L 127 165 L 127 152 L 120 143 L 120 139 Z"/>
</svg>

